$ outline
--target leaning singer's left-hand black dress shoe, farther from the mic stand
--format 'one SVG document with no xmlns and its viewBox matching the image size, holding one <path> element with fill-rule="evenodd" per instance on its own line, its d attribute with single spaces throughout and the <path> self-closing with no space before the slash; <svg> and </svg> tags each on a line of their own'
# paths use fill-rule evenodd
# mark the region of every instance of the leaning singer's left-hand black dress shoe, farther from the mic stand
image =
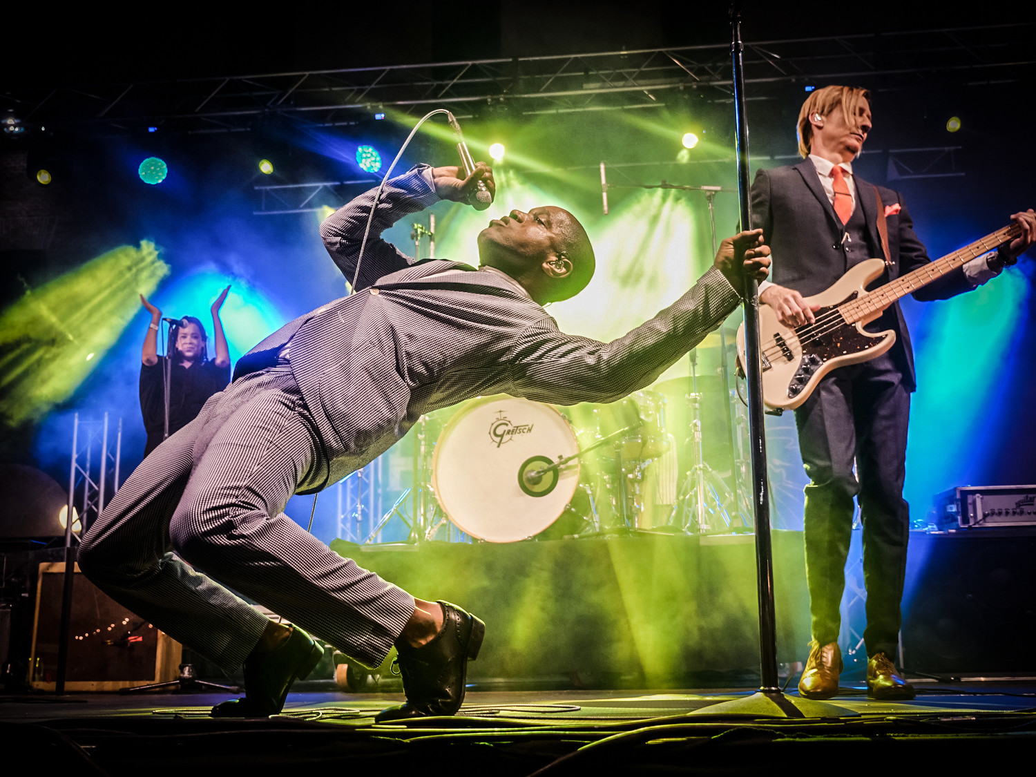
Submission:
<svg viewBox="0 0 1036 777">
<path fill-rule="evenodd" d="M 297 626 L 279 648 L 252 651 L 244 659 L 244 698 L 217 704 L 213 718 L 266 718 L 280 714 L 288 689 L 295 679 L 305 680 L 313 671 L 323 648 Z"/>
</svg>

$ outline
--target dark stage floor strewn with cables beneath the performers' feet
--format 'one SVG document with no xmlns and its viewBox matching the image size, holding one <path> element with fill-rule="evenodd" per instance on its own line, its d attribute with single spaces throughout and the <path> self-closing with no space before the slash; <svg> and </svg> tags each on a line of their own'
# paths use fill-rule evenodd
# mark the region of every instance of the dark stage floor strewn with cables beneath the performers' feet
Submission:
<svg viewBox="0 0 1036 777">
<path fill-rule="evenodd" d="M 186 770 L 392 769 L 426 774 L 760 774 L 776 758 L 873 773 L 923 758 L 925 769 L 987 765 L 1036 746 L 1036 682 L 921 683 L 906 702 L 843 686 L 827 717 L 779 717 L 716 704 L 745 690 L 592 691 L 471 688 L 455 718 L 375 725 L 400 693 L 296 684 L 284 714 L 215 720 L 226 693 L 10 694 L 0 703 L 9 762 L 23 755 L 91 774 Z M 789 693 L 792 701 L 797 694 Z M 712 708 L 712 709 L 710 709 Z M 1028 757 L 1028 756 L 1026 756 Z M 787 761 L 786 759 L 792 759 Z M 769 765 L 769 766 L 768 766 Z"/>
</svg>

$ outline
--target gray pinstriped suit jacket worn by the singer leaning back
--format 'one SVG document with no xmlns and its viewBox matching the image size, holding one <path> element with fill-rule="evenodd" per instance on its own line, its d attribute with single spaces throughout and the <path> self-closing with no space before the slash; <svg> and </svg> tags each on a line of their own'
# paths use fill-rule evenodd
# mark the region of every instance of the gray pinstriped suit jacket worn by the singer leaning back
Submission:
<svg viewBox="0 0 1036 777">
<path fill-rule="evenodd" d="M 350 281 L 373 200 L 373 192 L 362 195 L 320 229 Z M 327 483 L 380 455 L 422 413 L 472 397 L 620 399 L 655 380 L 738 305 L 713 268 L 617 340 L 566 335 L 507 279 L 459 262 L 414 263 L 380 238 L 395 221 L 436 200 L 427 166 L 390 181 L 353 293 L 296 318 L 241 359 L 237 374 L 249 371 L 250 356 L 290 341 L 288 359 L 330 462 Z"/>
</svg>

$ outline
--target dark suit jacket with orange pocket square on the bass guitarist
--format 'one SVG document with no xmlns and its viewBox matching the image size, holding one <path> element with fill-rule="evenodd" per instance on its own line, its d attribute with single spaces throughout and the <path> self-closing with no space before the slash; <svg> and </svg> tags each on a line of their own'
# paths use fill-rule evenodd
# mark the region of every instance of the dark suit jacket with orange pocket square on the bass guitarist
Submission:
<svg viewBox="0 0 1036 777">
<path fill-rule="evenodd" d="M 927 264 L 930 261 L 928 254 L 914 232 L 914 222 L 902 196 L 891 189 L 868 183 L 858 175 L 853 178 L 857 205 L 863 209 L 867 223 L 871 256 L 882 257 L 875 191 L 881 195 L 883 206 L 898 204 L 900 207 L 898 213 L 886 219 L 891 266 L 887 276 L 875 281 L 872 288 Z M 841 250 L 843 226 L 824 192 L 812 162 L 803 160 L 790 167 L 759 170 L 752 183 L 751 198 L 752 227 L 762 228 L 764 239 L 773 251 L 771 279 L 774 283 L 795 289 L 803 296 L 812 296 L 845 274 L 848 267 Z M 963 270 L 957 269 L 922 287 L 914 297 L 945 299 L 971 288 Z M 916 385 L 914 351 L 898 303 L 893 306 L 892 315 L 892 326 L 896 330 L 892 357 L 913 390 Z"/>
</svg>

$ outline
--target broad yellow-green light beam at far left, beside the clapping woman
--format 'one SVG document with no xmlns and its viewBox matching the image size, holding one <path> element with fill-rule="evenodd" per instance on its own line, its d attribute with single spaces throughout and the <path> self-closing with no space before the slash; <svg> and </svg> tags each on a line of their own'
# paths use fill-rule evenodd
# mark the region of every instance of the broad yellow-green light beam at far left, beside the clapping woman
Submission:
<svg viewBox="0 0 1036 777">
<path fill-rule="evenodd" d="M 122 246 L 0 311 L 0 428 L 38 421 L 73 395 L 169 272 L 154 244 Z"/>
</svg>

